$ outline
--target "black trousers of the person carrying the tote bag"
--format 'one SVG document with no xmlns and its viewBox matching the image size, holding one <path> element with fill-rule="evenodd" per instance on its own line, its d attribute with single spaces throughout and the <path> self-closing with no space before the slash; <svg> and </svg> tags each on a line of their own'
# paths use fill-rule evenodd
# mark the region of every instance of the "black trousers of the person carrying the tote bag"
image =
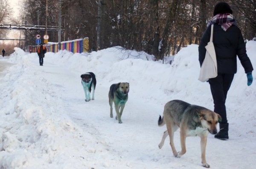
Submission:
<svg viewBox="0 0 256 169">
<path fill-rule="evenodd" d="M 222 120 L 220 123 L 227 123 L 225 102 L 227 98 L 227 91 L 230 89 L 233 78 L 234 74 L 218 73 L 217 77 L 209 79 L 214 103 L 214 112 L 221 115 Z"/>
</svg>

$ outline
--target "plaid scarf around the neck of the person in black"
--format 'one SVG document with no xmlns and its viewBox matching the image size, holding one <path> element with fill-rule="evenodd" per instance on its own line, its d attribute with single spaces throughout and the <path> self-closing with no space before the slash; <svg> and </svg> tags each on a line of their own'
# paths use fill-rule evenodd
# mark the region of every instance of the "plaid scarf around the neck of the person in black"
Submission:
<svg viewBox="0 0 256 169">
<path fill-rule="evenodd" d="M 215 23 L 221 25 L 221 28 L 224 31 L 227 31 L 227 29 L 229 29 L 233 24 L 236 25 L 236 21 L 234 20 L 233 15 L 229 13 L 216 14 L 211 20 L 211 24 Z"/>
</svg>

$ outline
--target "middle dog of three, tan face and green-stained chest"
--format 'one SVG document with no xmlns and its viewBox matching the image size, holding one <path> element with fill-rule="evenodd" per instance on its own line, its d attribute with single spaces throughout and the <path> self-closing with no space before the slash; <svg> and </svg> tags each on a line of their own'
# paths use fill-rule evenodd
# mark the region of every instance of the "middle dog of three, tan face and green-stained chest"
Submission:
<svg viewBox="0 0 256 169">
<path fill-rule="evenodd" d="M 108 102 L 110 105 L 110 117 L 113 118 L 113 102 L 116 109 L 116 120 L 118 123 L 122 123 L 121 116 L 125 108 L 125 103 L 128 100 L 129 83 L 116 83 L 110 86 L 108 92 Z"/>
</svg>

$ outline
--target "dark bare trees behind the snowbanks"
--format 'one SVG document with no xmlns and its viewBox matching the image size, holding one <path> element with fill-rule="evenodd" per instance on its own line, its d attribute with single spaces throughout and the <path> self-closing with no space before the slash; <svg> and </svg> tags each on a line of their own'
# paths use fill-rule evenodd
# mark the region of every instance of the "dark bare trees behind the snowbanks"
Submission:
<svg viewBox="0 0 256 169">
<path fill-rule="evenodd" d="M 48 0 L 48 26 L 58 26 L 60 0 Z M 198 44 L 217 0 L 61 0 L 61 41 L 89 37 L 90 51 L 122 46 L 145 51 L 156 59 L 175 54 L 188 44 Z M 226 0 L 244 38 L 256 37 L 256 0 Z M 100 6 L 99 4 L 100 3 Z M 28 25 L 45 25 L 46 0 L 25 0 Z M 99 34 L 97 35 L 97 28 Z M 27 45 L 35 34 L 26 31 Z M 49 31 L 58 42 L 58 31 Z M 97 43 L 99 38 L 99 43 Z M 161 50 L 158 50 L 161 42 Z"/>
</svg>

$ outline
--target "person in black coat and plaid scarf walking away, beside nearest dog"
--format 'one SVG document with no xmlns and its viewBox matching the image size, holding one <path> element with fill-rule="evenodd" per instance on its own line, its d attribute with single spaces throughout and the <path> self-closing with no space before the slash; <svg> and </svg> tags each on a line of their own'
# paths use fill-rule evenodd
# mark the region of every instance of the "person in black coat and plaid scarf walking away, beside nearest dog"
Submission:
<svg viewBox="0 0 256 169">
<path fill-rule="evenodd" d="M 218 76 L 210 78 L 208 82 L 212 92 L 214 112 L 222 117 L 222 120 L 219 121 L 220 131 L 215 135 L 215 138 L 221 140 L 229 138 L 225 101 L 234 74 L 237 71 L 236 56 L 238 56 L 241 65 L 244 67 L 244 72 L 247 74 L 247 85 L 250 86 L 253 82 L 253 66 L 246 54 L 241 30 L 236 26 L 236 21 L 232 14 L 233 11 L 227 3 L 217 3 L 213 12 L 214 17 L 204 32 L 198 47 L 199 62 L 200 66 L 202 66 L 206 53 L 205 46 L 210 40 L 211 25 L 214 24 L 213 43 L 217 59 Z"/>
</svg>

